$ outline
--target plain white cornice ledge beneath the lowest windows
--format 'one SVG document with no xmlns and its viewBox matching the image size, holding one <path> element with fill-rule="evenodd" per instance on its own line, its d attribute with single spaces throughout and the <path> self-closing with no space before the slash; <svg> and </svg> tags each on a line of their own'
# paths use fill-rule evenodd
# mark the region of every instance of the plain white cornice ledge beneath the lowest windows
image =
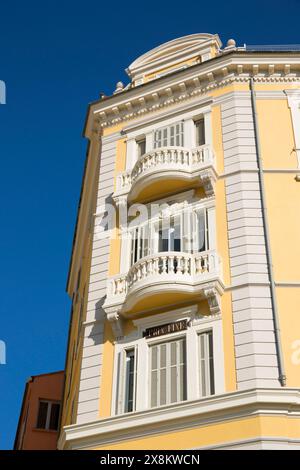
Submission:
<svg viewBox="0 0 300 470">
<path fill-rule="evenodd" d="M 300 391 L 293 388 L 252 389 L 177 403 L 136 413 L 65 426 L 59 449 L 116 444 L 149 435 L 200 427 L 253 415 L 300 418 Z"/>
</svg>

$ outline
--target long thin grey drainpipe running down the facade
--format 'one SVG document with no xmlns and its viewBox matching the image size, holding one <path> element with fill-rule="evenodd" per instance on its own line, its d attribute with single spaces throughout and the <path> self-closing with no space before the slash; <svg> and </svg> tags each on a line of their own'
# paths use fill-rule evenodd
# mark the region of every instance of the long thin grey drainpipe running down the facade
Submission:
<svg viewBox="0 0 300 470">
<path fill-rule="evenodd" d="M 270 291 L 271 291 L 271 304 L 272 304 L 272 313 L 273 313 L 275 346 L 276 346 L 277 361 L 278 361 L 278 372 L 279 372 L 278 380 L 280 382 L 280 385 L 284 387 L 286 385 L 286 376 L 285 376 L 285 371 L 284 371 L 283 352 L 282 352 L 281 340 L 280 340 L 279 315 L 278 315 L 278 306 L 277 306 L 276 292 L 275 292 L 270 232 L 269 232 L 269 227 L 268 227 L 268 222 L 267 222 L 266 190 L 265 190 L 263 166 L 262 166 L 262 158 L 261 158 L 261 147 L 260 147 L 260 140 L 259 140 L 257 108 L 256 108 L 253 78 L 250 78 L 250 92 L 251 92 L 252 115 L 253 115 L 253 123 L 254 123 L 254 138 L 255 138 L 255 146 L 256 146 L 259 190 L 260 190 L 261 205 L 262 205 L 262 218 L 263 218 L 264 235 L 265 235 L 265 240 L 266 240 L 266 255 L 267 255 L 268 273 L 269 273 L 269 281 L 270 281 Z"/>
</svg>

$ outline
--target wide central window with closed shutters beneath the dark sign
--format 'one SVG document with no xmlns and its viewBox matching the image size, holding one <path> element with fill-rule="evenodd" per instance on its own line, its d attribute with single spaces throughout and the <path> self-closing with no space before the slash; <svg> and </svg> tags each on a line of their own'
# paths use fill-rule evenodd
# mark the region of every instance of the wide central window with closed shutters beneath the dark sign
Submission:
<svg viewBox="0 0 300 470">
<path fill-rule="evenodd" d="M 150 406 L 186 400 L 185 338 L 150 347 Z"/>
</svg>

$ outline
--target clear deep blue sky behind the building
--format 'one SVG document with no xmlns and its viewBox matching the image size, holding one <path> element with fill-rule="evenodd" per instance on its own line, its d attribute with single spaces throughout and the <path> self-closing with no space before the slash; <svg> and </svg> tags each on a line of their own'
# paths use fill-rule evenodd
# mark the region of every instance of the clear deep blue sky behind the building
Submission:
<svg viewBox="0 0 300 470">
<path fill-rule="evenodd" d="M 19 0 L 2 2 L 0 15 L 0 448 L 9 449 L 27 377 L 64 367 L 88 102 L 127 83 L 124 69 L 140 54 L 179 36 L 300 43 L 300 0 Z"/>
</svg>

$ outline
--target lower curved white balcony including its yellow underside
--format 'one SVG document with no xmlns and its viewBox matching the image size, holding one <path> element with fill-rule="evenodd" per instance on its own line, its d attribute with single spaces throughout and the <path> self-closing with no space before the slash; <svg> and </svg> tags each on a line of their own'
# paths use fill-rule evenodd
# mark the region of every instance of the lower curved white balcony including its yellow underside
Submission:
<svg viewBox="0 0 300 470">
<path fill-rule="evenodd" d="M 196 254 L 162 252 L 142 258 L 127 274 L 108 279 L 106 311 L 130 316 L 175 302 L 216 297 L 222 286 L 221 262 L 213 250 Z M 218 310 L 218 305 L 211 306 Z"/>
</svg>

